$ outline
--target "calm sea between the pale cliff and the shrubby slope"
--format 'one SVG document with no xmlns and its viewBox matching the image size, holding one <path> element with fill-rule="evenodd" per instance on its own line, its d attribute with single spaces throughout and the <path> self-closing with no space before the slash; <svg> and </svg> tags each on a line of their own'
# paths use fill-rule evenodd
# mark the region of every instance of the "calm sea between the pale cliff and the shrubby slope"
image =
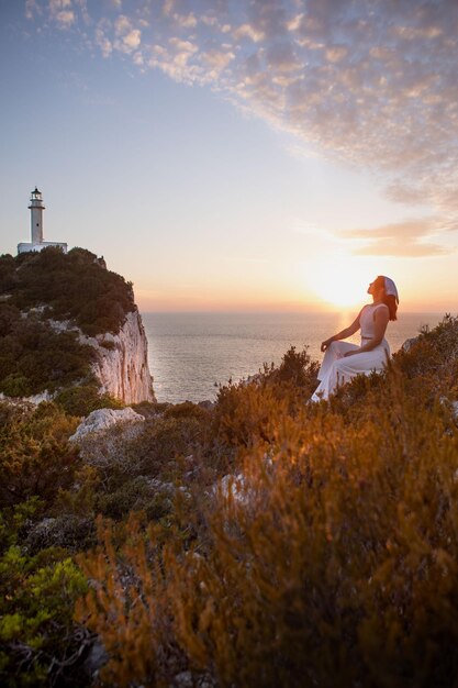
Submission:
<svg viewBox="0 0 458 688">
<path fill-rule="evenodd" d="M 399 313 L 390 322 L 391 352 L 444 313 Z M 264 364 L 305 346 L 321 360 L 321 342 L 348 326 L 355 313 L 142 313 L 148 339 L 149 369 L 159 402 L 214 401 L 219 386 L 255 375 Z M 358 336 L 348 341 L 359 342 Z"/>
</svg>

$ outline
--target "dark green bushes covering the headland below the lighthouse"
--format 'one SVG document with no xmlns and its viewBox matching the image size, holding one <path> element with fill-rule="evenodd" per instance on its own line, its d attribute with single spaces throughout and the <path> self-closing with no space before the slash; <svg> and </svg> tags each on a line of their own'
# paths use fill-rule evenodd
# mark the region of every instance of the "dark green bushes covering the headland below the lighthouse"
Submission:
<svg viewBox="0 0 458 688">
<path fill-rule="evenodd" d="M 48 247 L 0 256 L 0 392 L 67 390 L 60 402 L 76 414 L 105 406 L 90 375 L 93 348 L 81 344 L 77 332 L 56 330 L 52 320 L 69 320 L 88 335 L 116 333 L 133 309 L 132 286 L 89 251 Z M 80 391 L 70 391 L 82 380 L 85 404 Z"/>
</svg>

